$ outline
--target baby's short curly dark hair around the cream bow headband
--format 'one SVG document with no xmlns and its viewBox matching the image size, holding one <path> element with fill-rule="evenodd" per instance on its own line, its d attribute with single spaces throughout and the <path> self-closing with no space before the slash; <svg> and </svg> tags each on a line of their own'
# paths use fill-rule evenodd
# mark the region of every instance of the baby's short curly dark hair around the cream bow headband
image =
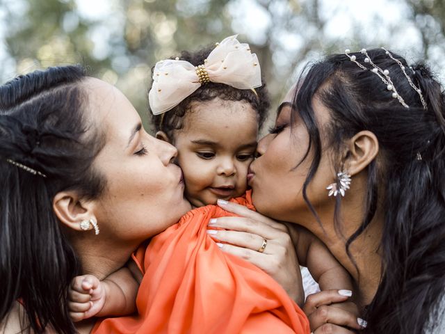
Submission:
<svg viewBox="0 0 445 334">
<path fill-rule="evenodd" d="M 204 59 L 209 56 L 212 49 L 213 47 L 206 47 L 195 52 L 182 51 L 179 59 L 181 61 L 188 61 L 195 66 L 202 65 L 204 64 Z M 172 57 L 171 59 L 175 59 L 175 57 Z M 154 67 L 152 67 L 152 73 L 153 70 Z M 255 92 L 257 94 L 255 94 Z M 200 86 L 200 88 L 195 90 L 195 92 L 186 97 L 186 99 L 181 101 L 181 103 L 166 113 L 161 115 L 153 115 L 152 110 L 149 107 L 149 114 L 152 119 L 154 131 L 163 131 L 169 138 L 173 138 L 173 131 L 182 128 L 184 116 L 186 115 L 187 111 L 191 110 L 191 105 L 193 102 L 207 102 L 217 97 L 226 101 L 248 102 L 254 111 L 257 112 L 258 125 L 259 129 L 261 129 L 264 121 L 267 118 L 267 113 L 270 106 L 266 84 L 263 83 L 261 87 L 255 88 L 255 90 L 250 90 L 238 89 L 225 84 L 209 82 L 208 84 Z"/>
</svg>

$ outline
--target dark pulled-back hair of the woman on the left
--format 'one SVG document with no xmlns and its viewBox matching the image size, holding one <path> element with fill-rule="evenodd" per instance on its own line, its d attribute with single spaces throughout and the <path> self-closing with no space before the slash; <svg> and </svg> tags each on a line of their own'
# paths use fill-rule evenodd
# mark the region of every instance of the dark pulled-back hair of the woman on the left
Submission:
<svg viewBox="0 0 445 334">
<path fill-rule="evenodd" d="M 92 168 L 104 136 L 87 126 L 84 78 L 79 66 L 51 67 L 0 86 L 0 319 L 19 301 L 35 333 L 76 333 L 67 287 L 81 265 L 52 200 L 67 189 L 96 198 L 105 186 Z"/>
</svg>

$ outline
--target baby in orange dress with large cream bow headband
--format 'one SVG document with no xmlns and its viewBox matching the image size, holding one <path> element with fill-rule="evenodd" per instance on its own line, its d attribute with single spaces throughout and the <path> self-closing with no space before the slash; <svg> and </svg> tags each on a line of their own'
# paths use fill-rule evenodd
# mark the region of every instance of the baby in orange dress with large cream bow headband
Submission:
<svg viewBox="0 0 445 334">
<path fill-rule="evenodd" d="M 248 166 L 269 107 L 256 56 L 232 36 L 213 49 L 156 63 L 153 80 L 149 104 L 156 137 L 176 146 L 186 197 L 197 209 L 141 246 L 128 268 L 102 281 L 74 278 L 72 318 L 130 314 L 139 287 L 138 316 L 106 319 L 95 333 L 309 333 L 300 308 L 275 280 L 221 252 L 207 233 L 211 218 L 234 216 L 217 200 L 236 198 L 254 209 L 250 192 L 245 194 Z M 346 289 L 341 293 L 348 299 L 350 278 L 329 250 L 303 229 L 298 239 L 307 245 L 296 248 L 300 264 L 309 257 L 306 250 L 316 252 L 311 258 L 319 260 L 309 270 L 323 282 L 321 289 Z"/>
</svg>

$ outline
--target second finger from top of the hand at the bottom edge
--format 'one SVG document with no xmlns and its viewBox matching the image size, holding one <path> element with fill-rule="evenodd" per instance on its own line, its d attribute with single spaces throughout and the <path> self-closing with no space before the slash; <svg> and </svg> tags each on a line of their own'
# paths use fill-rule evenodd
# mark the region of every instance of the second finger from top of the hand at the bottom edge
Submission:
<svg viewBox="0 0 445 334">
<path fill-rule="evenodd" d="M 321 305 L 311 315 L 308 316 L 311 329 L 314 331 L 323 324 L 334 324 L 338 326 L 347 326 L 353 329 L 361 329 L 357 316 L 341 308 L 335 308 L 330 305 Z M 323 332 L 321 332 L 323 333 Z M 330 333 L 330 332 L 327 332 Z"/>
</svg>

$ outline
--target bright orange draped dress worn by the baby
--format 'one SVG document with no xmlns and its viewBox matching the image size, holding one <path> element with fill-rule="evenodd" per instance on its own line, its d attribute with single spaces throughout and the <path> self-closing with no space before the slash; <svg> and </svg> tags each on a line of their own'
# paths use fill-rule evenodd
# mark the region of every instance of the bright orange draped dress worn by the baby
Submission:
<svg viewBox="0 0 445 334">
<path fill-rule="evenodd" d="M 232 201 L 253 208 L 250 193 Z M 138 315 L 98 321 L 92 333 L 309 333 L 309 321 L 267 273 L 224 253 L 207 234 L 216 205 L 193 209 L 141 246 Z"/>
</svg>

